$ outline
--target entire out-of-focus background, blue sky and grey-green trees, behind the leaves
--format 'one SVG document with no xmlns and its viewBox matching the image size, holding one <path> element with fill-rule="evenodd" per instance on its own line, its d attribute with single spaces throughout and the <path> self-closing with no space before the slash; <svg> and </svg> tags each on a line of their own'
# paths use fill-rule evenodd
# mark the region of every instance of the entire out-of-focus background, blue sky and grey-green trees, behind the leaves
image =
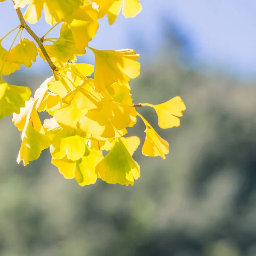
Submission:
<svg viewBox="0 0 256 256">
<path fill-rule="evenodd" d="M 100 180 L 80 187 L 51 165 L 47 150 L 18 165 L 20 132 L 12 116 L 3 119 L 1 256 L 256 256 L 256 2 L 141 3 L 134 19 L 101 20 L 90 46 L 141 54 L 134 102 L 184 100 L 179 128 L 160 130 L 153 110 L 139 110 L 168 140 L 169 155 L 143 157 L 140 147 L 133 187 Z M 0 37 L 18 25 L 11 0 L 0 3 L 0 22 Z M 43 35 L 49 26 L 41 19 L 32 28 Z M 93 55 L 79 61 L 93 63 Z M 38 58 L 4 79 L 34 92 L 50 75 Z M 143 131 L 138 120 L 129 132 L 143 142 Z"/>
</svg>

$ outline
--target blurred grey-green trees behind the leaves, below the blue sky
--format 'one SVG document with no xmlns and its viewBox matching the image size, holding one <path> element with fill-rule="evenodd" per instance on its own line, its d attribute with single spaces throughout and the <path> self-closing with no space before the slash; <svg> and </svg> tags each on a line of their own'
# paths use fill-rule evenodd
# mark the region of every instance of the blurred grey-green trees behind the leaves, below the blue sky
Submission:
<svg viewBox="0 0 256 256">
<path fill-rule="evenodd" d="M 151 108 L 138 110 L 170 153 L 143 157 L 138 119 L 129 130 L 142 142 L 133 187 L 80 187 L 48 150 L 17 165 L 20 132 L 12 116 L 0 122 L 0 256 L 256 256 L 255 81 L 191 68 L 186 40 L 168 31 L 142 58 L 133 98 L 158 104 L 179 95 L 187 109 L 169 130 L 157 128 Z M 34 92 L 45 78 L 19 71 L 5 80 Z"/>
</svg>

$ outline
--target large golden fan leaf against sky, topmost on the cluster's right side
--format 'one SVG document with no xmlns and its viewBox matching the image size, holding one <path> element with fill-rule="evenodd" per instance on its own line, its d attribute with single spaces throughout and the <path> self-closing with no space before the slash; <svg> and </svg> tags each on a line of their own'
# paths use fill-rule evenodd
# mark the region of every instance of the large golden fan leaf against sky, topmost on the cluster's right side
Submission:
<svg viewBox="0 0 256 256">
<path fill-rule="evenodd" d="M 101 51 L 88 47 L 95 55 L 94 86 L 97 92 L 104 91 L 113 83 L 127 84 L 140 75 L 140 57 L 132 49 Z"/>
</svg>

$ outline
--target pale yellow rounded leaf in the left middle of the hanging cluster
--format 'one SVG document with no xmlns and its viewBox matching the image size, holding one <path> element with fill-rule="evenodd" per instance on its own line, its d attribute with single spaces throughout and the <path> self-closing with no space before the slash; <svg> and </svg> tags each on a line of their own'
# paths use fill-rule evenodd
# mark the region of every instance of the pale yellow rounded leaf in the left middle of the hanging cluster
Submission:
<svg viewBox="0 0 256 256">
<path fill-rule="evenodd" d="M 87 132 L 81 131 L 77 128 L 77 122 L 87 113 L 87 110 L 80 110 L 74 106 L 61 108 L 54 113 L 54 117 L 61 127 L 63 127 L 70 134 L 75 133 L 81 137 L 90 137 Z"/>
</svg>

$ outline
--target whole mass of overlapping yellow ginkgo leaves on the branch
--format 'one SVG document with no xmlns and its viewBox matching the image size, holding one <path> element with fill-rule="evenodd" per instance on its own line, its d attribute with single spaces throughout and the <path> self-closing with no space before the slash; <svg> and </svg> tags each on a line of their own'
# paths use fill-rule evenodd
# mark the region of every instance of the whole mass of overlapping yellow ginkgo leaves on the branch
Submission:
<svg viewBox="0 0 256 256">
<path fill-rule="evenodd" d="M 136 124 L 137 116 L 146 127 L 143 155 L 165 158 L 169 153 L 168 142 L 135 107 L 154 108 L 163 129 L 179 126 L 186 107 L 179 96 L 158 105 L 134 105 L 128 83 L 140 75 L 139 55 L 133 49 L 99 50 L 88 43 L 96 35 L 99 18 L 107 15 L 113 24 L 121 10 L 125 17 L 135 17 L 142 9 L 140 1 L 14 0 L 14 7 L 26 8 L 24 17 L 29 23 L 36 23 L 44 9 L 51 29 L 61 24 L 59 38 L 47 38 L 51 29 L 38 38 L 40 48 L 21 34 L 15 45 L 21 26 L 16 28 L 19 30 L 9 50 L 1 43 L 10 33 L 0 40 L 0 77 L 19 70 L 20 65 L 31 67 L 38 52 L 56 66 L 52 68 L 54 76 L 41 84 L 33 98 L 29 87 L 10 85 L 0 78 L 0 119 L 13 114 L 12 121 L 21 132 L 17 162 L 26 166 L 49 148 L 52 164 L 81 186 L 98 179 L 133 185 L 140 177 L 140 166 L 133 158 L 140 139 L 125 135 L 127 127 Z M 41 52 L 41 44 L 47 54 Z M 94 53 L 95 70 L 93 65 L 75 63 L 86 48 Z M 38 113 L 43 111 L 51 117 L 42 125 Z"/>
</svg>

